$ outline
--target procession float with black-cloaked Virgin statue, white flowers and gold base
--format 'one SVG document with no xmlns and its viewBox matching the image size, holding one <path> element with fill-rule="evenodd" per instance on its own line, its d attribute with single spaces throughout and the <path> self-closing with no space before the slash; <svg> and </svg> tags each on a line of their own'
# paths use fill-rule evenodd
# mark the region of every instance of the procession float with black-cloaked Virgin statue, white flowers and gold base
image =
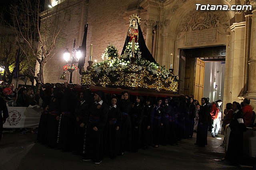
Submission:
<svg viewBox="0 0 256 170">
<path fill-rule="evenodd" d="M 131 16 L 121 54 L 114 45 L 109 44 L 102 54 L 102 61 L 94 64 L 88 61 L 87 71 L 82 73 L 81 85 L 92 86 L 97 90 L 107 87 L 142 93 L 147 91 L 173 95 L 177 92 L 178 76 L 174 76 L 173 69 L 166 69 L 156 63 L 146 47 L 139 22 L 137 15 Z"/>
</svg>

